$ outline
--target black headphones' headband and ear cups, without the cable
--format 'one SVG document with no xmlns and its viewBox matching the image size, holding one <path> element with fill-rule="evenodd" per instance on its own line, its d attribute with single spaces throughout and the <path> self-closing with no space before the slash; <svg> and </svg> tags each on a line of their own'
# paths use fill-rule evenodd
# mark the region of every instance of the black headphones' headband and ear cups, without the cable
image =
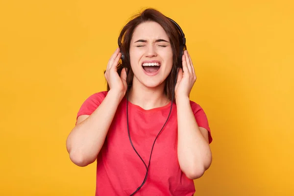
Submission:
<svg viewBox="0 0 294 196">
<path fill-rule="evenodd" d="M 182 37 L 182 40 L 180 40 L 180 42 L 181 42 L 180 43 L 180 49 L 179 49 L 180 53 L 178 55 L 178 61 L 177 61 L 178 62 L 178 67 L 182 67 L 182 56 L 184 55 L 184 50 L 187 49 L 185 34 L 184 34 L 183 30 L 181 29 L 181 27 L 174 20 L 172 20 L 169 17 L 167 17 L 167 18 L 170 21 L 172 21 L 172 23 L 176 26 L 178 32 L 180 33 L 180 36 Z M 122 46 L 121 37 L 119 37 L 119 39 L 118 39 L 118 45 L 119 45 L 119 47 L 121 49 L 121 46 Z M 126 57 L 123 54 L 122 50 L 121 50 L 121 53 L 122 53 L 122 57 L 121 57 L 121 59 L 122 59 L 122 65 L 124 66 L 123 61 L 125 60 Z"/>
</svg>

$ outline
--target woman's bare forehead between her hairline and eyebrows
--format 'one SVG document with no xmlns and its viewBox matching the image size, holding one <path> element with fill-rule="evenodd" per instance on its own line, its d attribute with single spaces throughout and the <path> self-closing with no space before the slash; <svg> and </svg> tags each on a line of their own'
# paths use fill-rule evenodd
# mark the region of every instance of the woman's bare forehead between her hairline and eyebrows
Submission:
<svg viewBox="0 0 294 196">
<path fill-rule="evenodd" d="M 156 22 L 145 22 L 138 25 L 132 36 L 132 40 L 146 39 L 166 39 L 168 40 L 168 34 L 165 32 L 163 27 Z"/>
</svg>

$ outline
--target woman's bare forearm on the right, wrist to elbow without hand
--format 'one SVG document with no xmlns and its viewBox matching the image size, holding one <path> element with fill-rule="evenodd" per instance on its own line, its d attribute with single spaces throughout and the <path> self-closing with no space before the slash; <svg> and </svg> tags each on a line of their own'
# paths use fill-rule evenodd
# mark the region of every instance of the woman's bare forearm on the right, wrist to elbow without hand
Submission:
<svg viewBox="0 0 294 196">
<path fill-rule="evenodd" d="M 209 168 L 211 150 L 196 123 L 189 97 L 177 98 L 176 105 L 179 165 L 187 177 L 196 179 Z"/>
</svg>

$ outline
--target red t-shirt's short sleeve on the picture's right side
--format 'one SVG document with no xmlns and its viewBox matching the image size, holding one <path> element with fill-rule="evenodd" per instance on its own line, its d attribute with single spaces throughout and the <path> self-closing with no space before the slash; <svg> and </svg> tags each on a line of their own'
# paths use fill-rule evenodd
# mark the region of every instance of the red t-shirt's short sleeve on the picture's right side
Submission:
<svg viewBox="0 0 294 196">
<path fill-rule="evenodd" d="M 207 116 L 204 112 L 204 110 L 201 108 L 200 105 L 197 103 L 190 101 L 191 102 L 191 108 L 193 110 L 196 122 L 199 127 L 206 128 L 208 130 L 208 139 L 209 139 L 209 144 L 212 142 L 212 135 L 211 135 L 211 130 L 209 127 L 208 119 Z"/>
</svg>

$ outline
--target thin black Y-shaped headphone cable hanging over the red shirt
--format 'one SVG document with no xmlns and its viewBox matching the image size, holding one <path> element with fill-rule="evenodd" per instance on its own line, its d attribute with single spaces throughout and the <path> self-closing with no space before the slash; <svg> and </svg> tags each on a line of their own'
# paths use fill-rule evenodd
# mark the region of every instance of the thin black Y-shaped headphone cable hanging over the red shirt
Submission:
<svg viewBox="0 0 294 196">
<path fill-rule="evenodd" d="M 175 77 L 174 87 L 173 87 L 173 91 L 172 91 L 172 102 L 173 102 L 174 90 L 175 90 L 175 85 L 176 85 L 176 80 L 177 80 L 177 75 L 178 75 L 178 73 L 179 73 L 179 70 L 177 71 L 177 73 L 176 73 L 176 77 Z M 143 183 L 141 184 L 141 186 L 139 186 L 139 187 L 137 188 L 137 190 L 136 190 L 134 193 L 132 193 L 132 194 L 130 195 L 130 196 L 133 196 L 135 193 L 137 193 L 137 192 L 141 189 L 141 187 L 145 184 L 145 182 L 146 182 L 146 180 L 147 180 L 147 175 L 148 175 L 148 170 L 149 170 L 149 166 L 150 166 L 150 161 L 151 161 L 151 155 L 152 155 L 153 147 L 154 147 L 155 141 L 157 140 L 159 134 L 161 133 L 161 131 L 163 130 L 164 126 L 166 125 L 166 123 L 168 122 L 168 120 L 169 120 L 169 118 L 170 118 L 170 115 L 171 115 L 171 113 L 172 113 L 172 103 L 171 103 L 171 110 L 170 110 L 169 116 L 168 116 L 166 122 L 164 123 L 163 127 L 161 128 L 161 130 L 159 131 L 159 133 L 157 134 L 157 136 L 156 136 L 156 138 L 155 138 L 155 140 L 154 140 L 154 142 L 153 142 L 153 145 L 152 145 L 152 148 L 151 148 L 150 157 L 149 157 L 149 163 L 148 163 L 148 167 L 147 167 L 146 163 L 144 162 L 144 160 L 142 159 L 142 157 L 139 155 L 139 153 L 138 153 L 137 150 L 135 149 L 135 147 L 134 147 L 134 145 L 133 145 L 133 143 L 132 143 L 132 140 L 131 140 L 130 131 L 129 131 L 129 125 L 128 125 L 128 88 L 127 88 L 126 91 L 127 91 L 126 119 L 127 119 L 127 132 L 128 132 L 129 140 L 130 140 L 130 143 L 131 143 L 133 149 L 135 150 L 135 152 L 136 152 L 137 155 L 140 157 L 140 159 L 142 160 L 142 162 L 144 163 L 144 165 L 145 165 L 145 167 L 146 167 L 146 174 L 145 174 L 144 181 L 143 181 Z"/>
</svg>

